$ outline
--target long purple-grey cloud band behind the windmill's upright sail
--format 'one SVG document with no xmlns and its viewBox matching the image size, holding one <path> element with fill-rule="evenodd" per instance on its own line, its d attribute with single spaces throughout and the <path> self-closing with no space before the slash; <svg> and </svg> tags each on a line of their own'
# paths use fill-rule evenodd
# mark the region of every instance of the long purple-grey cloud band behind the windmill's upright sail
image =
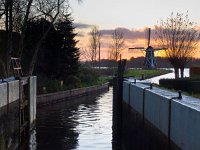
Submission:
<svg viewBox="0 0 200 150">
<path fill-rule="evenodd" d="M 124 38 L 126 39 L 141 39 L 146 37 L 146 31 L 140 31 L 140 30 L 129 30 L 127 28 L 116 28 L 115 30 L 118 30 L 120 32 L 124 33 Z M 101 30 L 101 33 L 103 35 L 112 35 L 114 30 Z M 154 35 L 154 30 L 151 31 L 152 35 Z"/>
</svg>

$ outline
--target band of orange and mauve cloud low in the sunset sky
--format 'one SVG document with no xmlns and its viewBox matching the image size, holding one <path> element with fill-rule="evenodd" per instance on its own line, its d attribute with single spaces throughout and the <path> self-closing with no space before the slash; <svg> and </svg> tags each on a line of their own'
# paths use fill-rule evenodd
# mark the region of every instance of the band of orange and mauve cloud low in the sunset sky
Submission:
<svg viewBox="0 0 200 150">
<path fill-rule="evenodd" d="M 89 25 L 88 25 L 89 26 Z M 200 26 L 196 27 L 200 31 Z M 145 56 L 144 51 L 140 50 L 129 50 L 130 47 L 146 47 L 147 40 L 145 38 L 145 28 L 139 30 L 129 30 L 126 28 L 117 28 L 118 30 L 124 33 L 125 37 L 125 48 L 122 51 L 122 58 L 123 59 L 130 59 L 131 57 L 142 57 Z M 77 33 L 81 34 L 81 36 L 77 36 L 76 39 L 78 42 L 78 47 L 81 51 L 85 49 L 89 49 L 89 35 L 90 28 L 79 28 L 77 29 Z M 101 59 L 108 59 L 108 51 L 110 50 L 110 40 L 113 30 L 101 30 L 102 31 L 102 38 L 101 38 Z M 154 40 L 155 31 L 154 29 L 151 30 L 151 46 L 157 47 L 157 44 Z M 200 44 L 199 44 L 200 46 Z M 164 51 L 157 51 L 155 52 L 155 56 L 164 57 Z M 197 49 L 195 58 L 200 58 L 200 48 Z M 81 56 L 81 60 L 86 60 L 85 57 Z"/>
</svg>

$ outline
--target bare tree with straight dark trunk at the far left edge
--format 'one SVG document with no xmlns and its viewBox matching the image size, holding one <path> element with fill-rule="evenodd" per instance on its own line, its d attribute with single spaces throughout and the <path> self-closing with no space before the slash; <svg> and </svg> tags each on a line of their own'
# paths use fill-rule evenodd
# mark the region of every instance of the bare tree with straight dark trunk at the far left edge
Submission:
<svg viewBox="0 0 200 150">
<path fill-rule="evenodd" d="M 7 50 L 5 58 L 6 74 L 9 75 L 10 57 L 13 49 L 13 31 L 20 33 L 22 21 L 26 10 L 26 4 L 32 3 L 33 0 L 0 0 L 0 19 L 4 22 L 6 31 Z"/>
</svg>

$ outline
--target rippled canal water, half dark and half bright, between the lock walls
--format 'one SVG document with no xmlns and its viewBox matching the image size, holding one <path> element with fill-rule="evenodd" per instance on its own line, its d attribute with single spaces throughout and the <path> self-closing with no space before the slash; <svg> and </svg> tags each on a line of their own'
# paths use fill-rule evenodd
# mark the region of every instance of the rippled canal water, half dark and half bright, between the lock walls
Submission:
<svg viewBox="0 0 200 150">
<path fill-rule="evenodd" d="M 112 89 L 37 110 L 34 150 L 111 150 Z"/>
</svg>

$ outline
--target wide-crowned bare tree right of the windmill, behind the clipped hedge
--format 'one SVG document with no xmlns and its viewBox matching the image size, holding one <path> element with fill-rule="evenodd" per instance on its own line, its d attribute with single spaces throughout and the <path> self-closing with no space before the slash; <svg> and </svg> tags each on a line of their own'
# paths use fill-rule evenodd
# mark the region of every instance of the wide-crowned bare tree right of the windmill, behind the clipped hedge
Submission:
<svg viewBox="0 0 200 150">
<path fill-rule="evenodd" d="M 188 13 L 173 13 L 166 20 L 161 20 L 156 26 L 156 42 L 166 47 L 165 54 L 174 67 L 175 78 L 184 76 L 186 64 L 194 56 L 199 40 L 199 33 L 195 30 L 195 23 L 188 18 Z"/>
</svg>

